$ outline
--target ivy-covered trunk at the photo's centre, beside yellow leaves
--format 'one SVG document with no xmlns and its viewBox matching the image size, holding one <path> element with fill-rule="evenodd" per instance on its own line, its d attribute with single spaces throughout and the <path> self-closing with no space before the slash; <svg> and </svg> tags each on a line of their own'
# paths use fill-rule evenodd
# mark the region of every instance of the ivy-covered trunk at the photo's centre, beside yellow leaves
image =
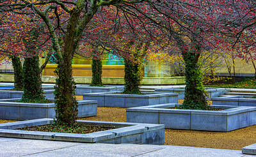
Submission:
<svg viewBox="0 0 256 157">
<path fill-rule="evenodd" d="M 124 93 L 125 94 L 141 94 L 140 86 L 140 65 L 132 63 L 128 59 L 124 59 Z"/>
</svg>

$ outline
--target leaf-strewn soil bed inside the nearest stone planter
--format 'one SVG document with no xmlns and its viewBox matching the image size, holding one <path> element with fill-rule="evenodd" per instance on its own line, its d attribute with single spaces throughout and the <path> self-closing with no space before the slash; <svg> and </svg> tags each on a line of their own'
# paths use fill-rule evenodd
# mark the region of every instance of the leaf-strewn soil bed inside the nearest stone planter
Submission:
<svg viewBox="0 0 256 157">
<path fill-rule="evenodd" d="M 67 126 L 65 124 L 48 124 L 43 126 L 33 126 L 29 128 L 19 128 L 18 130 L 27 130 L 27 131 L 45 131 L 45 132 L 57 132 L 57 133 L 93 133 L 97 131 L 105 131 L 115 129 L 115 127 L 102 127 L 102 126 L 93 126 L 88 124 L 76 123 L 73 126 Z"/>
</svg>

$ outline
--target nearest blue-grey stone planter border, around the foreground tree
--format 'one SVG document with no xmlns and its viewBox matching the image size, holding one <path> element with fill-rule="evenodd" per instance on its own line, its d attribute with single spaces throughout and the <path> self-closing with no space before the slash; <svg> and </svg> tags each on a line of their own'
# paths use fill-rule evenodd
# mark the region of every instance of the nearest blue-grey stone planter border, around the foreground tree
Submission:
<svg viewBox="0 0 256 157">
<path fill-rule="evenodd" d="M 161 124 L 77 121 L 78 123 L 84 124 L 116 127 L 116 129 L 113 130 L 88 134 L 13 130 L 27 126 L 50 124 L 52 120 L 53 119 L 45 118 L 0 124 L 0 137 L 108 144 L 164 144 L 164 125 Z"/>
</svg>

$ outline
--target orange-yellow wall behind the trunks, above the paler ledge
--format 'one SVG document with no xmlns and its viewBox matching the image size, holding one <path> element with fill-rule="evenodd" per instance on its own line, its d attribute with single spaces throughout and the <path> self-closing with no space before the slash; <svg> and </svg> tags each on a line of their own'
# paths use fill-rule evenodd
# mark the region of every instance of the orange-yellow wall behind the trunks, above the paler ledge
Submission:
<svg viewBox="0 0 256 157">
<path fill-rule="evenodd" d="M 42 75 L 54 76 L 57 64 L 47 64 Z M 74 77 L 92 77 L 92 66 L 72 64 Z M 102 65 L 102 77 L 124 77 L 124 65 Z"/>
</svg>

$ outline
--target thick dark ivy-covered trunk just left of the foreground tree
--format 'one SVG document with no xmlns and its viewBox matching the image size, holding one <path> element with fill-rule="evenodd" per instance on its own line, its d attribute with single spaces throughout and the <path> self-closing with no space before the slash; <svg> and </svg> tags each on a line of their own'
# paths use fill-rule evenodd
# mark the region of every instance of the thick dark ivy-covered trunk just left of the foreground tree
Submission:
<svg viewBox="0 0 256 157">
<path fill-rule="evenodd" d="M 45 100 L 42 89 L 41 68 L 39 57 L 27 57 L 23 64 L 23 89 L 22 102 L 42 102 Z"/>
</svg>

